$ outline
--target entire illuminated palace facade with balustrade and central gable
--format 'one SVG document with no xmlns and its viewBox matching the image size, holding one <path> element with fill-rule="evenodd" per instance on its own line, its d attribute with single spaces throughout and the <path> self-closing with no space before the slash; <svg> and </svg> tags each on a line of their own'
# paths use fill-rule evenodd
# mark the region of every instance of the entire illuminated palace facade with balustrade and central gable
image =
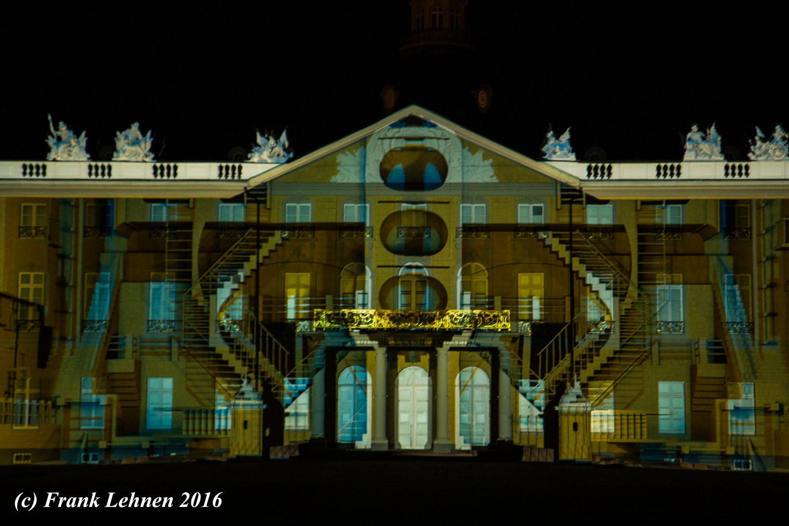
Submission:
<svg viewBox="0 0 789 526">
<path fill-rule="evenodd" d="M 289 162 L 0 162 L 0 463 L 789 468 L 787 177 L 535 161 L 418 106 Z"/>
</svg>

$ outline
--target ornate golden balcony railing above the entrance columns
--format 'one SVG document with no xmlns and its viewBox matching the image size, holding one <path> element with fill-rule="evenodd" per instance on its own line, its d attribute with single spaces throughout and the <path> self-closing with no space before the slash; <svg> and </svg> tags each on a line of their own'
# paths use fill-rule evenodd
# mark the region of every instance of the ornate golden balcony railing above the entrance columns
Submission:
<svg viewBox="0 0 789 526">
<path fill-rule="evenodd" d="M 315 330 L 510 330 L 510 311 L 315 309 Z"/>
</svg>

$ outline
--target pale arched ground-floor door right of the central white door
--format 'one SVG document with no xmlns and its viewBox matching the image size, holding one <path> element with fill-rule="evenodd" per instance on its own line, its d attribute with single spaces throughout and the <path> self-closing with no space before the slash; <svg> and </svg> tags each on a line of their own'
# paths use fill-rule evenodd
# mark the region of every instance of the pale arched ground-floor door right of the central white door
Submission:
<svg viewBox="0 0 789 526">
<path fill-rule="evenodd" d="M 454 382 L 456 449 L 490 443 L 490 394 L 490 379 L 480 367 L 460 371 Z"/>
</svg>

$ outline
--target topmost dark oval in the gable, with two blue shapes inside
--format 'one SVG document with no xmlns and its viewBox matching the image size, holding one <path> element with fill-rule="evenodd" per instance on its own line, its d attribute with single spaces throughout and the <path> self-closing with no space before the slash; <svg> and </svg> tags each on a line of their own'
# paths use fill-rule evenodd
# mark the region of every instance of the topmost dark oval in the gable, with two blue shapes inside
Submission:
<svg viewBox="0 0 789 526">
<path fill-rule="evenodd" d="M 435 190 L 447 181 L 447 159 L 441 152 L 421 145 L 393 148 L 383 155 L 380 176 L 393 190 Z"/>
</svg>

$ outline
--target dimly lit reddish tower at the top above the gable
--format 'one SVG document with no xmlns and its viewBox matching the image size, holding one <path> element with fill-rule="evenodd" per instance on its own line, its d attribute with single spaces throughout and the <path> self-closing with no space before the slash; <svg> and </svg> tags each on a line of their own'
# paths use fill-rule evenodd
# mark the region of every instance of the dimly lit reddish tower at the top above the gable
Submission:
<svg viewBox="0 0 789 526">
<path fill-rule="evenodd" d="M 466 0 L 409 0 L 411 32 L 400 52 L 410 54 L 468 54 L 474 50 L 466 35 Z"/>
</svg>

